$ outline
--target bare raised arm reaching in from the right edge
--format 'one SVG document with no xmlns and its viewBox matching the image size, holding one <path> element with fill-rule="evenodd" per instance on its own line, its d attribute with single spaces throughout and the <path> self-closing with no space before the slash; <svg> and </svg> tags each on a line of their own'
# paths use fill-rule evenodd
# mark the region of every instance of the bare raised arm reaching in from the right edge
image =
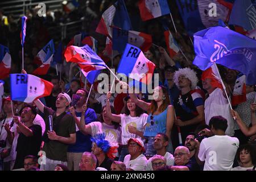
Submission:
<svg viewBox="0 0 256 182">
<path fill-rule="evenodd" d="M 242 121 L 240 115 L 237 113 L 237 111 L 231 110 L 232 117 L 236 118 L 237 125 L 240 127 L 243 134 L 246 135 L 246 137 L 249 137 L 251 135 L 256 134 L 256 125 L 253 125 L 252 127 L 247 127 L 245 123 Z"/>
</svg>

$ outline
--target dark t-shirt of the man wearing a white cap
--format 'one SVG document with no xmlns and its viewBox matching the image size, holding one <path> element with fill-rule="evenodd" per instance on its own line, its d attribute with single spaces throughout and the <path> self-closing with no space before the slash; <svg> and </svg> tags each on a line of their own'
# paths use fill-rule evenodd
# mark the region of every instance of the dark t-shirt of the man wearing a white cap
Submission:
<svg viewBox="0 0 256 182">
<path fill-rule="evenodd" d="M 44 122 L 46 123 L 46 131 L 43 138 L 47 137 L 47 131 L 49 130 L 48 115 L 52 115 L 53 131 L 60 137 L 70 137 L 70 134 L 76 133 L 76 123 L 71 114 L 63 112 L 59 116 L 56 116 L 56 111 L 49 107 L 44 107 Z M 43 151 L 46 152 L 46 157 L 52 160 L 67 161 L 68 144 L 61 143 L 57 140 L 46 140 L 44 143 Z"/>
</svg>

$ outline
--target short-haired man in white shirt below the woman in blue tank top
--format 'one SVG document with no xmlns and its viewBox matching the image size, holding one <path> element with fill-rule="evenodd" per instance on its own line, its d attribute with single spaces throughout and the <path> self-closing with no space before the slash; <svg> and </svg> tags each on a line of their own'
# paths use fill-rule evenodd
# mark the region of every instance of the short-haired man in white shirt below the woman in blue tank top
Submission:
<svg viewBox="0 0 256 182">
<path fill-rule="evenodd" d="M 169 138 L 167 137 L 166 134 L 163 133 L 158 133 L 155 136 L 155 140 L 153 143 L 153 146 L 156 150 L 156 155 L 163 156 L 166 159 L 166 165 L 167 166 L 173 166 L 174 165 L 174 156 L 167 152 L 167 147 L 169 143 Z M 153 171 L 152 167 L 152 158 L 148 159 L 147 165 L 146 165 L 146 171 Z"/>
</svg>

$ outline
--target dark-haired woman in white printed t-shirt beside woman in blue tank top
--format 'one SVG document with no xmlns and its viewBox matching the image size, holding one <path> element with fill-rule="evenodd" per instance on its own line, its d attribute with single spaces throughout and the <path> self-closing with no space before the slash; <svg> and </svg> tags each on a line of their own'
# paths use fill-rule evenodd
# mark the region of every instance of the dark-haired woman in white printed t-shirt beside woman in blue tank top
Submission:
<svg viewBox="0 0 256 182">
<path fill-rule="evenodd" d="M 125 97 L 125 101 L 127 102 L 125 105 L 125 114 L 116 115 L 112 113 L 112 111 L 110 110 L 110 97 L 111 93 L 109 92 L 107 94 L 106 114 L 112 121 L 121 124 L 122 150 L 119 157 L 119 161 L 123 162 L 125 156 L 129 154 L 127 148 L 127 141 L 130 138 L 143 138 L 143 132 L 147 124 L 148 115 L 144 113 L 141 107 L 137 107 L 134 104 L 134 101 L 131 100 L 130 96 Z"/>
</svg>

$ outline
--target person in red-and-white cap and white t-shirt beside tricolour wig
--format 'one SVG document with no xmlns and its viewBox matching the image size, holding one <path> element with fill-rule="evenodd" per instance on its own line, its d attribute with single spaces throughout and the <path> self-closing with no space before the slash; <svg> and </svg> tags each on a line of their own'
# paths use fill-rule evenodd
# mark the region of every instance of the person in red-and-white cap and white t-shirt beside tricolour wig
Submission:
<svg viewBox="0 0 256 182">
<path fill-rule="evenodd" d="M 144 143 L 140 138 L 130 138 L 127 142 L 129 155 L 125 156 L 123 163 L 128 171 L 144 171 L 147 158 L 143 155 Z"/>
</svg>

